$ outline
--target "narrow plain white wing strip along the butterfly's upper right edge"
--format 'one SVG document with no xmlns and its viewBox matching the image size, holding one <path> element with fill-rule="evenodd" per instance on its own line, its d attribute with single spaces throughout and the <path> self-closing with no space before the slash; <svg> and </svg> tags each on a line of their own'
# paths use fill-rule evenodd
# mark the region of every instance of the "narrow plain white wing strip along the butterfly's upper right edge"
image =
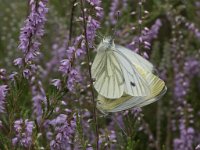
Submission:
<svg viewBox="0 0 200 150">
<path fill-rule="evenodd" d="M 123 53 L 132 64 L 141 66 L 141 68 L 146 71 L 152 72 L 154 70 L 154 66 L 152 65 L 152 63 L 140 56 L 139 54 L 120 45 L 116 45 L 116 49 Z"/>
</svg>

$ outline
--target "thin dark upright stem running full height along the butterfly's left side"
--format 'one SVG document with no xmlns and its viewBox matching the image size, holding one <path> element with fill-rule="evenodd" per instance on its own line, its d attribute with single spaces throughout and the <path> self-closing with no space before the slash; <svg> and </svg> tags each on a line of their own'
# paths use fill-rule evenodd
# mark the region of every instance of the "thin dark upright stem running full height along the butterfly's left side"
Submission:
<svg viewBox="0 0 200 150">
<path fill-rule="evenodd" d="M 94 88 L 93 88 L 93 80 L 91 75 L 91 63 L 90 63 L 90 55 L 89 55 L 89 46 L 88 46 L 88 39 L 87 39 L 87 28 L 86 28 L 86 18 L 85 18 L 85 12 L 83 7 L 83 0 L 81 1 L 81 11 L 82 11 L 82 17 L 83 17 L 83 26 L 84 26 L 84 36 L 85 36 L 85 46 L 86 46 L 86 55 L 87 55 L 87 61 L 88 61 L 88 72 L 89 72 L 89 78 L 90 78 L 90 88 L 92 92 L 92 103 L 93 103 L 93 119 L 95 124 L 95 132 L 96 132 L 96 150 L 99 149 L 99 131 L 98 131 L 98 122 L 97 122 L 97 113 L 96 113 L 96 102 L 94 100 Z"/>
</svg>

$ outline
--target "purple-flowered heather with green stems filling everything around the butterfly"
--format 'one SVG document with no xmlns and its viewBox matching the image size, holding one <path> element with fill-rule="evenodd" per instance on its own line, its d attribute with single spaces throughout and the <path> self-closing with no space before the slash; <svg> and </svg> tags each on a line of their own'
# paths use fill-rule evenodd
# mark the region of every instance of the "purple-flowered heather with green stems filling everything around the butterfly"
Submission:
<svg viewBox="0 0 200 150">
<path fill-rule="evenodd" d="M 0 0 L 0 149 L 200 149 L 200 1 Z M 167 92 L 102 114 L 91 64 L 113 36 Z"/>
</svg>

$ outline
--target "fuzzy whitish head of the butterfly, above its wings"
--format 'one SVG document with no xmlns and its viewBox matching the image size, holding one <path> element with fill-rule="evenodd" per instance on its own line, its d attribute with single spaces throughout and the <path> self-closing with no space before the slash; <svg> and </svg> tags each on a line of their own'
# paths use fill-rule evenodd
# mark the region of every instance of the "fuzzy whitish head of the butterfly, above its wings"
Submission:
<svg viewBox="0 0 200 150">
<path fill-rule="evenodd" d="M 112 37 L 103 38 L 102 42 L 99 44 L 97 51 L 108 51 L 115 47 L 114 40 Z"/>
</svg>

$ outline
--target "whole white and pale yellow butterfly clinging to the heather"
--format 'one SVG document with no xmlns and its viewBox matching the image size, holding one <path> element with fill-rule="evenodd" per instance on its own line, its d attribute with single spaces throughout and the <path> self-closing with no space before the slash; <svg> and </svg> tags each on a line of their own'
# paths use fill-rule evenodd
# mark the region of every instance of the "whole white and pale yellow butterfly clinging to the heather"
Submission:
<svg viewBox="0 0 200 150">
<path fill-rule="evenodd" d="M 99 94 L 97 108 L 104 113 L 118 112 L 158 100 L 167 87 L 154 71 L 152 63 L 139 54 L 104 38 L 91 67 Z"/>
</svg>

